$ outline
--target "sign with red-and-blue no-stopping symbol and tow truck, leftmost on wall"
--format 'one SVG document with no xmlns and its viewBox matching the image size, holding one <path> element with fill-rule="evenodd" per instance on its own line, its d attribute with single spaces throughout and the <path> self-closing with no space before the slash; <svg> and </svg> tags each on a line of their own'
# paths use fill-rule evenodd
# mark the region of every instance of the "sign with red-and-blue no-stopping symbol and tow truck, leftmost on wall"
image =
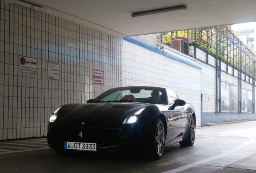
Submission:
<svg viewBox="0 0 256 173">
<path fill-rule="evenodd" d="M 37 74 L 37 59 L 20 56 L 19 71 Z"/>
</svg>

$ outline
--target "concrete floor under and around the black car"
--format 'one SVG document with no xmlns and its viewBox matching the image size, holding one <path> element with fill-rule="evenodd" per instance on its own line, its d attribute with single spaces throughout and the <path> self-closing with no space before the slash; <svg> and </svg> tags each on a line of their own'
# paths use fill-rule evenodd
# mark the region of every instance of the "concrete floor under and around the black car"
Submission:
<svg viewBox="0 0 256 173">
<path fill-rule="evenodd" d="M 144 155 L 60 155 L 46 138 L 0 142 L 0 173 L 256 173 L 256 121 L 198 127 L 192 147 Z"/>
</svg>

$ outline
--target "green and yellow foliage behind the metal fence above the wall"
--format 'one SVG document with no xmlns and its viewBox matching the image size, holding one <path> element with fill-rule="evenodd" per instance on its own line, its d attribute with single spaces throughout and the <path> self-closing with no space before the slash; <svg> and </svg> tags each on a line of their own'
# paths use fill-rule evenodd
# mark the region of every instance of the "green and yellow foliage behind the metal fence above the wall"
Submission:
<svg viewBox="0 0 256 173">
<path fill-rule="evenodd" d="M 207 33 L 209 35 L 208 46 L 206 42 Z M 168 46 L 171 46 L 172 39 L 177 37 L 183 37 L 189 41 L 189 45 L 197 46 L 202 50 L 206 50 L 211 55 L 213 55 L 216 58 L 216 60 L 221 60 L 223 62 L 227 62 L 227 56 L 233 55 L 231 56 L 232 61 L 229 58 L 227 63 L 230 66 L 235 67 L 235 69 L 237 70 L 242 70 L 246 75 L 250 76 L 251 78 L 254 78 L 254 79 L 256 78 L 256 76 L 252 74 L 252 71 L 254 71 L 254 69 L 256 70 L 256 65 L 250 66 L 250 60 L 246 59 L 248 55 L 245 55 L 246 54 L 245 52 L 244 54 L 242 54 L 242 57 L 240 59 L 244 64 L 243 69 L 241 69 L 238 64 L 239 63 L 238 57 L 240 57 L 238 55 L 238 52 L 239 52 L 238 44 L 240 44 L 241 42 L 239 42 L 239 39 L 235 37 L 234 33 L 231 32 L 231 26 L 216 26 L 216 27 L 210 27 L 210 28 L 167 32 L 167 33 L 164 33 L 162 37 L 163 37 L 164 44 Z M 235 37 L 234 40 L 233 40 L 233 37 Z M 234 50 L 233 50 L 233 45 L 235 45 Z M 228 48 L 228 52 L 227 52 L 227 48 Z M 245 46 L 242 48 L 245 48 Z M 248 69 L 248 65 L 249 65 L 249 69 Z M 247 70 L 244 70 L 245 68 Z"/>
</svg>

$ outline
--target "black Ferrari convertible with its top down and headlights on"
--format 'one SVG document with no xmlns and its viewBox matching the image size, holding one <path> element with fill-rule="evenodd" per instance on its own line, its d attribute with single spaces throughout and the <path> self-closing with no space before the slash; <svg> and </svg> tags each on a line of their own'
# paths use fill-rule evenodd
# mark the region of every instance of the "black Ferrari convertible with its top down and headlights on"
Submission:
<svg viewBox="0 0 256 173">
<path fill-rule="evenodd" d="M 47 142 L 64 151 L 143 151 L 160 159 L 174 143 L 191 146 L 196 115 L 192 105 L 160 87 L 109 89 L 85 104 L 52 113 Z"/>
</svg>

